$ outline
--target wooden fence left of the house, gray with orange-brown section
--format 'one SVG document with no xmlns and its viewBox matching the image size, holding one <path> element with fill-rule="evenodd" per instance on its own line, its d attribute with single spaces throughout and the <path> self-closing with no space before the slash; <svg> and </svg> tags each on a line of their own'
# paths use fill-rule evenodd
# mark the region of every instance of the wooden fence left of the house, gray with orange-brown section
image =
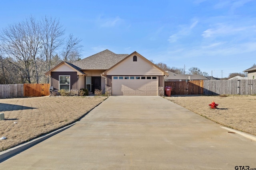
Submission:
<svg viewBox="0 0 256 170">
<path fill-rule="evenodd" d="M 0 84 L 0 98 L 48 96 L 50 84 Z"/>
</svg>

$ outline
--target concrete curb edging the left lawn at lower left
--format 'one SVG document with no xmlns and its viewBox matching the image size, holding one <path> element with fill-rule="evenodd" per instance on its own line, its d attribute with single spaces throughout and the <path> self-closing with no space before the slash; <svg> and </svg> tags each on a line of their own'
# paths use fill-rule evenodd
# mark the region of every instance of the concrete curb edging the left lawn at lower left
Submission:
<svg viewBox="0 0 256 170">
<path fill-rule="evenodd" d="M 60 133 L 70 127 L 72 127 L 73 125 L 75 125 L 76 123 L 72 123 L 71 125 L 68 125 L 68 126 L 65 126 L 65 127 L 62 127 L 61 129 L 58 129 L 56 131 L 53 131 L 51 133 L 48 133 L 46 135 L 42 135 L 36 139 L 33 139 L 32 141 L 29 141 L 29 142 L 26 142 L 26 143 L 23 143 L 21 145 L 18 145 L 17 147 L 14 147 L 14 148 L 10 148 L 8 150 L 5 150 L 5 151 L 2 151 L 0 152 L 0 163 L 1 162 L 4 162 L 5 160 L 11 158 L 12 156 L 15 156 L 16 154 L 19 154 L 20 152 L 26 150 L 26 149 L 29 149 L 30 147 L 52 137 L 53 135 L 56 135 L 57 133 Z"/>
</svg>

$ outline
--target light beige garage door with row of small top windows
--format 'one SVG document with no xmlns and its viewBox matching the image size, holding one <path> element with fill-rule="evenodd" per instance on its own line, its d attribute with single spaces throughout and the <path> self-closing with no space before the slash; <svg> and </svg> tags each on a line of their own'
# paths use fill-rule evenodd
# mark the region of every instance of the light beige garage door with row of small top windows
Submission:
<svg viewBox="0 0 256 170">
<path fill-rule="evenodd" d="M 112 95 L 157 96 L 157 76 L 112 76 Z"/>
</svg>

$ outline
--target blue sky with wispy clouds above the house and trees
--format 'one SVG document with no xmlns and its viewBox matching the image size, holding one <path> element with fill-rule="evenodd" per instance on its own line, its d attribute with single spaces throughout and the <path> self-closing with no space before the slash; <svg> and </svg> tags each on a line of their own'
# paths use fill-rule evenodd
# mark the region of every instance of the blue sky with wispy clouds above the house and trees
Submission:
<svg viewBox="0 0 256 170">
<path fill-rule="evenodd" d="M 0 29 L 57 18 L 82 55 L 137 51 L 155 63 L 227 77 L 256 64 L 256 0 L 3 0 Z"/>
</svg>

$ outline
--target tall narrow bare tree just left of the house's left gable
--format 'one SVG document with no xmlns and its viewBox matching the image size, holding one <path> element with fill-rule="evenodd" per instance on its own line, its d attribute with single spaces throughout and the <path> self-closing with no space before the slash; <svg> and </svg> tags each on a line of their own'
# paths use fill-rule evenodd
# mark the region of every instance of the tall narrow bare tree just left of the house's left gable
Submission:
<svg viewBox="0 0 256 170">
<path fill-rule="evenodd" d="M 60 25 L 59 20 L 44 17 L 41 21 L 42 27 L 42 43 L 43 43 L 43 56 L 45 59 L 45 71 L 49 71 L 56 63 L 52 63 L 54 52 L 60 45 L 62 45 L 64 29 Z M 47 79 L 49 83 L 49 79 Z"/>
</svg>

